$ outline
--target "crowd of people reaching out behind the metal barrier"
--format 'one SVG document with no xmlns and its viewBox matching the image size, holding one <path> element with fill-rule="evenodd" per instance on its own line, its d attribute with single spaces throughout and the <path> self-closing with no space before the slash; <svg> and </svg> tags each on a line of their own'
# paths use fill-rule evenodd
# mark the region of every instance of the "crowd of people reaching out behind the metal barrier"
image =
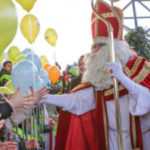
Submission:
<svg viewBox="0 0 150 150">
<path fill-rule="evenodd" d="M 77 67 L 76 64 L 74 66 Z M 71 89 L 73 89 L 81 81 L 82 67 L 83 67 L 83 56 L 79 59 L 79 63 L 78 63 L 79 75 L 74 76 L 73 74 L 71 74 L 69 72 L 70 66 L 68 65 L 66 67 L 66 70 L 63 71 L 63 75 L 60 77 L 60 79 L 58 80 L 56 84 L 51 85 L 51 88 L 43 88 L 40 91 L 38 91 L 40 93 L 38 95 L 40 99 L 46 93 L 50 93 L 53 95 L 60 95 L 60 94 L 71 91 Z M 3 68 L 0 71 L 0 86 L 1 87 L 5 86 L 5 84 L 7 84 L 7 82 L 11 80 L 12 69 L 13 69 L 13 63 L 11 61 L 8 60 L 3 63 Z M 21 87 L 18 87 L 18 89 L 16 90 L 14 94 L 0 94 L 0 102 L 1 102 L 0 103 L 0 119 L 1 119 L 0 120 L 0 141 L 1 141 L 0 150 L 5 150 L 8 148 L 16 149 L 17 143 L 15 143 L 15 141 L 13 141 L 10 138 L 5 139 L 6 138 L 5 134 L 6 133 L 10 134 L 14 129 L 16 130 L 16 126 L 19 130 L 22 130 L 22 126 L 20 124 L 22 124 L 24 120 L 28 120 L 28 124 L 29 124 L 31 120 L 29 120 L 28 118 L 33 111 L 32 108 L 34 107 L 35 104 L 37 104 L 36 98 L 34 97 L 35 93 L 32 87 L 31 87 L 31 93 L 26 94 L 26 95 L 19 93 L 20 88 Z M 56 111 L 58 114 L 59 112 L 58 107 Z M 52 115 L 51 117 L 53 118 Z M 54 118 L 56 122 L 57 122 L 57 119 L 58 117 Z M 46 130 L 50 131 L 49 128 L 50 127 L 47 126 Z M 24 144 L 24 146 L 19 146 L 19 148 L 25 149 L 25 147 L 26 148 L 39 147 L 40 145 L 38 144 L 37 140 L 38 140 L 38 137 L 35 139 L 30 138 L 25 142 L 26 144 Z M 35 144 L 33 144 L 32 142 Z"/>
</svg>

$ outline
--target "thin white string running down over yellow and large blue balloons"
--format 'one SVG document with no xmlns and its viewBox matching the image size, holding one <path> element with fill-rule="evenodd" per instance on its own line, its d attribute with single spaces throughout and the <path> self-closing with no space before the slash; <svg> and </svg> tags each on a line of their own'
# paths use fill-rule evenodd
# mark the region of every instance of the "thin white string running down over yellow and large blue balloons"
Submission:
<svg viewBox="0 0 150 150">
<path fill-rule="evenodd" d="M 30 39 L 32 41 L 32 23 L 31 23 L 31 15 L 29 14 L 29 33 L 30 33 Z M 33 45 L 32 45 L 33 48 Z M 32 63 L 34 64 L 34 57 L 33 57 L 33 51 L 31 52 L 32 56 Z M 32 67 L 32 72 L 33 72 L 33 84 L 34 84 L 34 89 L 35 89 L 35 72 L 34 72 L 34 67 Z"/>
</svg>

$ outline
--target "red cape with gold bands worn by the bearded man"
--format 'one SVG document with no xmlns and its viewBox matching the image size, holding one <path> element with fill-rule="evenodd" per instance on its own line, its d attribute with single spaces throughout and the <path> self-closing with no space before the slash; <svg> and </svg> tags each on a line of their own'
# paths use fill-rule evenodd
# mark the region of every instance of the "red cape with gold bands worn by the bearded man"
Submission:
<svg viewBox="0 0 150 150">
<path fill-rule="evenodd" d="M 124 72 L 135 82 L 150 88 L 150 62 L 145 58 L 136 56 L 127 63 Z M 88 88 L 89 86 L 91 85 L 82 85 L 82 88 L 81 86 L 77 87 L 73 92 Z M 128 93 L 122 85 L 120 87 L 120 96 Z M 112 88 L 103 91 L 103 96 L 105 101 L 113 99 Z M 98 94 L 96 109 L 83 115 L 76 116 L 68 112 L 60 112 L 55 150 L 106 149 L 106 133 L 104 132 L 106 125 L 102 121 L 103 110 L 99 99 L 101 98 Z M 141 141 L 140 138 L 138 140 Z"/>
</svg>

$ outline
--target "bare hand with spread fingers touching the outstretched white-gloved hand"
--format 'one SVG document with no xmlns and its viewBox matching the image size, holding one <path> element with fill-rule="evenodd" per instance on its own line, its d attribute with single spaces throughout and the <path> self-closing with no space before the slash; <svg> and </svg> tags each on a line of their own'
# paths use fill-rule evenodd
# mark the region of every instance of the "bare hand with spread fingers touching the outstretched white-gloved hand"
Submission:
<svg viewBox="0 0 150 150">
<path fill-rule="evenodd" d="M 48 94 L 48 92 L 49 92 L 47 87 L 44 87 L 36 92 L 34 91 L 33 87 L 30 87 L 30 89 L 31 89 L 31 93 L 35 99 L 34 104 L 38 103 L 41 99 L 46 98 L 45 95 Z"/>
</svg>

